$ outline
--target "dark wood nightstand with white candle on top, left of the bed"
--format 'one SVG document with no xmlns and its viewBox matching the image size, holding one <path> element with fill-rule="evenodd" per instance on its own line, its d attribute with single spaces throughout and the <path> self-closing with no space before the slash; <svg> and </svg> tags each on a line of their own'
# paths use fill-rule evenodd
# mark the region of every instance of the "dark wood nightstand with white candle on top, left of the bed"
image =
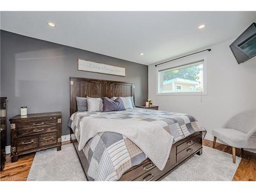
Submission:
<svg viewBox="0 0 256 192">
<path fill-rule="evenodd" d="M 17 115 L 10 119 L 10 128 L 12 162 L 31 152 L 61 150 L 61 112 Z"/>
</svg>

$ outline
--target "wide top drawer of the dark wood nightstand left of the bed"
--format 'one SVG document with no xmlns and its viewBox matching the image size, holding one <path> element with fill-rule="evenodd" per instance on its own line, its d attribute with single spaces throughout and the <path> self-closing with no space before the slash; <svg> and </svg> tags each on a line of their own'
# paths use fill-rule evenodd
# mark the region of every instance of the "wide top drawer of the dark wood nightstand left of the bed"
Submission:
<svg viewBox="0 0 256 192">
<path fill-rule="evenodd" d="M 29 128 L 29 127 L 34 127 L 34 128 L 40 128 L 46 125 L 57 125 L 57 119 L 42 119 L 42 120 L 35 120 L 35 121 L 29 121 L 29 122 L 21 122 L 17 123 L 17 129 L 24 129 L 24 128 Z"/>
</svg>

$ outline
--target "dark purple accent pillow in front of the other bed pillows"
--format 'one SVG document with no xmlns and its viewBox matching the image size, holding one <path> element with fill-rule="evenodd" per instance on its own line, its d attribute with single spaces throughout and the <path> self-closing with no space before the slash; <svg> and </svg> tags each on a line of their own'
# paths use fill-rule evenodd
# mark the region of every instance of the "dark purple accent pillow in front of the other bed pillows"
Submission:
<svg viewBox="0 0 256 192">
<path fill-rule="evenodd" d="M 102 98 L 103 110 L 102 112 L 111 112 L 111 111 L 125 111 L 123 101 L 120 97 L 117 97 L 115 100 L 112 100 L 108 97 Z"/>
</svg>

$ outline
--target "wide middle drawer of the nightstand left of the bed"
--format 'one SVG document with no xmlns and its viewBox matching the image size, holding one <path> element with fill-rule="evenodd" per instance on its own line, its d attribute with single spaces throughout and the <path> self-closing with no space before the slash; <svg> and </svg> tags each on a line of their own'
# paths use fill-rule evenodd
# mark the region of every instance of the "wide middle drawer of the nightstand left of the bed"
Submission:
<svg viewBox="0 0 256 192">
<path fill-rule="evenodd" d="M 56 125 L 44 125 L 44 126 L 36 126 L 36 127 L 28 127 L 24 129 L 17 129 L 18 136 L 26 136 L 26 135 L 35 135 L 39 133 L 48 133 L 57 131 Z"/>
</svg>

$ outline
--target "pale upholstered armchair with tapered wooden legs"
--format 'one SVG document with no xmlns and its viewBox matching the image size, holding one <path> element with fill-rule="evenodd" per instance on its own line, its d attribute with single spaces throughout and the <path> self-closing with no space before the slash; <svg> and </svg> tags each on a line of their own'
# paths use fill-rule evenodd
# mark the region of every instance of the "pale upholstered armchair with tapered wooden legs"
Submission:
<svg viewBox="0 0 256 192">
<path fill-rule="evenodd" d="M 236 147 L 256 149 L 256 112 L 247 111 L 233 116 L 223 129 L 212 130 L 215 147 L 216 139 L 232 146 L 233 163 L 236 163 Z"/>
</svg>

